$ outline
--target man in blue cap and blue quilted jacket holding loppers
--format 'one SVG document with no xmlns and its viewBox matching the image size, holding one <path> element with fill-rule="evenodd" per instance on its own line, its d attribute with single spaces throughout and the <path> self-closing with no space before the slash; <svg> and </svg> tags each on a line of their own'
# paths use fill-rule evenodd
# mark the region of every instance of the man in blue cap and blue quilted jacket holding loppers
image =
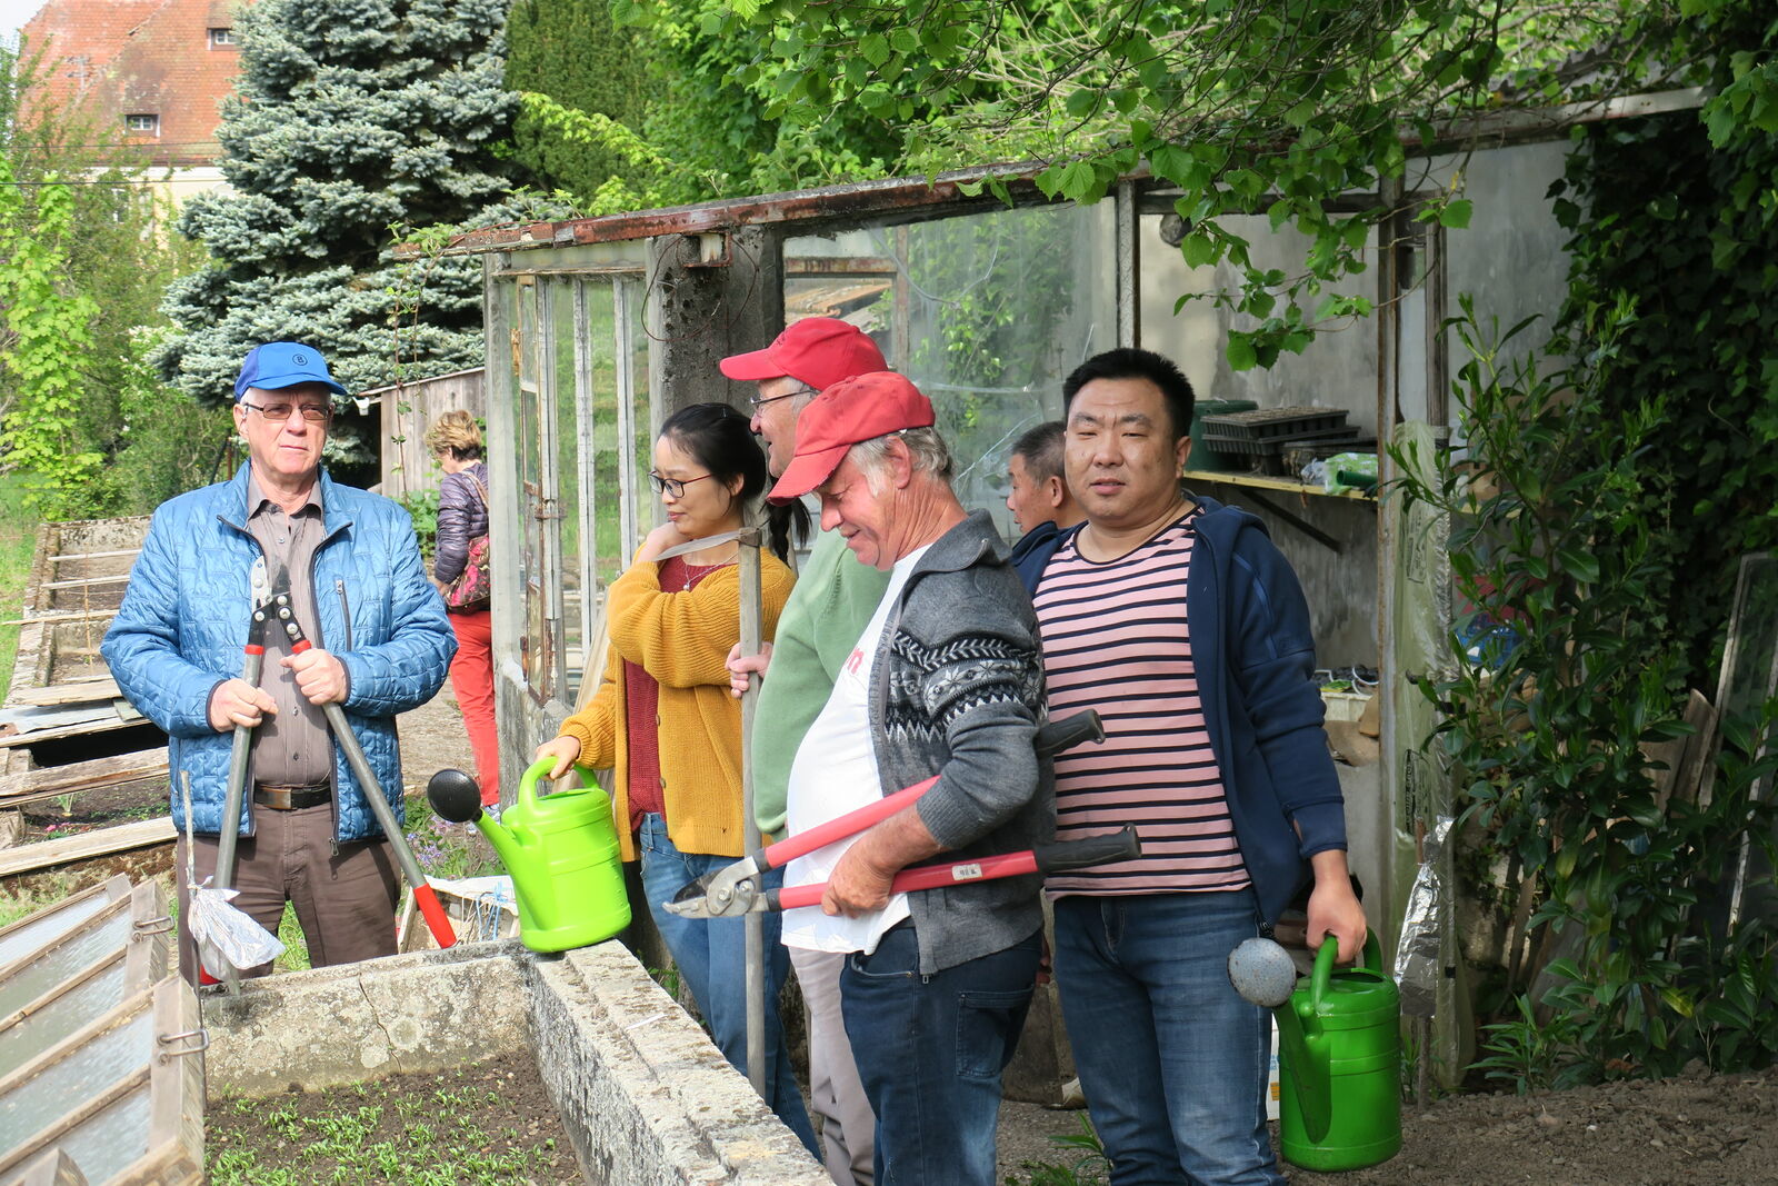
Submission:
<svg viewBox="0 0 1778 1186">
<path fill-rule="evenodd" d="M 235 427 L 249 461 L 233 480 L 160 505 L 103 644 L 124 697 L 167 733 L 172 818 L 197 880 L 215 871 L 222 827 L 238 829 L 235 905 L 276 934 L 293 903 L 316 967 L 393 955 L 398 894 L 389 843 L 322 706 L 341 704 L 400 818 L 395 715 L 432 699 L 457 649 L 407 512 L 322 469 L 332 397 L 345 393 L 313 347 L 272 341 L 247 354 Z M 281 581 L 313 645 L 292 654 L 268 637 L 263 674 L 247 683 L 235 672 L 249 617 Z M 240 820 L 224 821 L 236 725 L 252 729 L 249 793 Z M 185 877 L 176 880 L 187 918 Z M 196 982 L 183 926 L 180 971 Z"/>
</svg>

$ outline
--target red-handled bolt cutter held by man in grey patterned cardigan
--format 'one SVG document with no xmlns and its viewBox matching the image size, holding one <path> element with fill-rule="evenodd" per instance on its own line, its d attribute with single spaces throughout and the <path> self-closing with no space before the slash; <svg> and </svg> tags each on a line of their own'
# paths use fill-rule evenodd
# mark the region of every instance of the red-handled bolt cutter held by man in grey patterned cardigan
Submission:
<svg viewBox="0 0 1778 1186">
<path fill-rule="evenodd" d="M 1088 709 L 1063 720 L 1053 720 L 1037 731 L 1035 747 L 1040 756 L 1060 754 L 1081 741 L 1104 740 L 1104 727 L 1099 713 Z M 885 795 L 875 804 L 866 804 L 857 811 L 829 820 L 782 839 L 768 848 L 741 857 L 734 864 L 713 869 L 695 882 L 686 884 L 665 907 L 681 918 L 745 918 L 761 910 L 788 910 L 793 907 L 820 905 L 827 884 L 786 885 L 782 889 L 761 889 L 761 875 L 816 848 L 845 839 L 864 829 L 887 820 L 921 795 L 939 779 L 926 779 L 903 788 L 894 795 Z M 962 882 L 983 882 L 999 877 L 1019 877 L 1024 873 L 1060 873 L 1067 869 L 1085 869 L 1111 861 L 1133 861 L 1141 855 L 1136 829 L 1124 827 L 1108 836 L 1092 836 L 1081 841 L 1037 845 L 1026 852 L 978 857 L 949 864 L 921 864 L 901 869 L 891 882 L 891 893 L 914 889 L 933 889 L 937 885 L 957 885 Z"/>
</svg>

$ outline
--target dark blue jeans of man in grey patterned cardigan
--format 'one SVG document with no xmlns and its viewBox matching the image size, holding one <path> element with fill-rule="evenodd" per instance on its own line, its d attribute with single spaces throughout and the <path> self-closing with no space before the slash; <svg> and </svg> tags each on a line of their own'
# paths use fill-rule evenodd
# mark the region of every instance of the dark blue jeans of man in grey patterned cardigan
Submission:
<svg viewBox="0 0 1778 1186">
<path fill-rule="evenodd" d="M 923 976 L 905 921 L 846 958 L 841 1012 L 877 1110 L 877 1186 L 994 1186 L 1001 1070 L 1031 1006 L 1040 935 Z"/>
</svg>

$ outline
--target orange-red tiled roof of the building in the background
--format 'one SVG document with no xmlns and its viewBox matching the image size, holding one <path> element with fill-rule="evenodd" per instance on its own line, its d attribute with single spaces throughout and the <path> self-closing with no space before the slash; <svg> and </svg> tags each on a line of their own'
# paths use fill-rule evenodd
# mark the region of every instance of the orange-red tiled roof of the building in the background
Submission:
<svg viewBox="0 0 1778 1186">
<path fill-rule="evenodd" d="M 76 107 L 108 133 L 149 151 L 156 165 L 215 162 L 222 98 L 240 55 L 212 44 L 235 23 L 228 0 L 46 0 L 23 30 L 25 53 L 43 53 L 43 100 Z M 30 107 L 27 94 L 27 116 Z M 132 133 L 126 116 L 155 116 Z"/>
</svg>

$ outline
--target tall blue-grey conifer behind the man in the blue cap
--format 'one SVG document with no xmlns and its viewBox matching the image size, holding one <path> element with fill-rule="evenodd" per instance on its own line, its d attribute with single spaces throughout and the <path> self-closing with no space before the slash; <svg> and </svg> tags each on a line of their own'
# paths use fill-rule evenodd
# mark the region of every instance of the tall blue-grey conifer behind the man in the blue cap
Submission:
<svg viewBox="0 0 1778 1186">
<path fill-rule="evenodd" d="M 171 382 L 228 402 L 242 356 L 272 340 L 324 349 L 354 391 L 482 361 L 480 260 L 430 261 L 416 299 L 420 270 L 393 260 L 391 228 L 509 213 L 496 155 L 516 110 L 501 85 L 505 11 L 505 0 L 242 7 L 242 71 L 217 133 L 233 192 L 180 215 L 212 258 L 167 290 L 183 331 L 156 357 Z"/>
</svg>

